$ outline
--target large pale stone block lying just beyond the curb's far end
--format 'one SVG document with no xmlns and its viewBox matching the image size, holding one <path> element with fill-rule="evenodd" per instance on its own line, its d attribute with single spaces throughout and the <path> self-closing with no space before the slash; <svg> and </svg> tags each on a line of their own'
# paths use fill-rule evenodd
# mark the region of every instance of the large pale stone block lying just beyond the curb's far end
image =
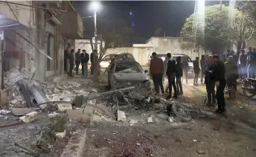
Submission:
<svg viewBox="0 0 256 157">
<path fill-rule="evenodd" d="M 69 119 L 83 124 L 90 124 L 92 121 L 92 115 L 83 114 L 83 109 L 68 109 L 66 113 Z"/>
</svg>

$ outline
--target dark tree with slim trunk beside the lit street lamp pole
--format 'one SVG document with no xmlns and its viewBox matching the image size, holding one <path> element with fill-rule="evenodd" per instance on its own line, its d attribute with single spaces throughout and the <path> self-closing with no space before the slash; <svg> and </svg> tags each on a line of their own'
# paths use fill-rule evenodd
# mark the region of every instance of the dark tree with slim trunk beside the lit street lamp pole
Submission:
<svg viewBox="0 0 256 157">
<path fill-rule="evenodd" d="M 92 49 L 92 37 L 94 36 L 94 22 L 86 23 L 87 38 L 90 39 Z M 100 42 L 100 50 L 97 51 L 95 60 L 94 76 L 92 80 L 97 81 L 100 74 L 100 62 L 106 54 L 107 48 L 131 47 L 132 28 L 122 19 L 112 19 L 108 21 L 97 21 L 97 40 Z"/>
</svg>

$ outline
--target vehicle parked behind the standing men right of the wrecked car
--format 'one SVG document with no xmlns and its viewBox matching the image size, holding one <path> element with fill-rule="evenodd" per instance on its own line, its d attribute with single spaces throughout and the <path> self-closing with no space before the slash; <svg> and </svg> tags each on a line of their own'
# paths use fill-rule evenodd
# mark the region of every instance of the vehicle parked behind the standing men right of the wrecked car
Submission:
<svg viewBox="0 0 256 157">
<path fill-rule="evenodd" d="M 156 54 L 157 57 L 161 58 L 161 60 L 165 60 L 167 54 Z M 182 57 L 182 62 L 185 60 L 185 57 L 188 58 L 188 72 L 193 73 L 193 61 L 191 60 L 191 57 L 188 57 L 186 54 L 172 54 L 173 60 L 176 60 L 177 57 Z M 151 54 L 148 57 L 148 63 L 147 65 L 150 65 L 150 60 L 152 59 Z"/>
</svg>

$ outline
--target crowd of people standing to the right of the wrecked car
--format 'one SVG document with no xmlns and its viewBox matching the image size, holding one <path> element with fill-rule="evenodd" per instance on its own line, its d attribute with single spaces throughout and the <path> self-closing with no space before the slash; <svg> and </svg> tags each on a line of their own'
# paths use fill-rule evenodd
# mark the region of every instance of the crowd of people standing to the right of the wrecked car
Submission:
<svg viewBox="0 0 256 157">
<path fill-rule="evenodd" d="M 173 60 L 170 53 L 167 54 L 165 60 L 157 57 L 156 52 L 152 54 L 150 61 L 150 77 L 156 89 L 156 95 L 164 96 L 164 92 L 168 93 L 167 98 L 176 98 L 179 94 L 183 94 L 182 77 L 185 75 L 188 84 L 188 60 L 181 62 L 181 57 Z M 205 84 L 208 94 L 208 106 L 215 106 L 216 100 L 218 104 L 217 113 L 225 112 L 224 90 L 237 90 L 238 78 L 255 78 L 256 69 L 256 48 L 249 48 L 246 53 L 241 50 L 235 54 L 234 51 L 227 50 L 227 54 L 220 60 L 218 55 L 207 56 L 202 55 L 201 60 L 196 57 L 193 61 L 193 84 L 198 85 L 200 77 L 201 83 Z M 200 75 L 201 72 L 201 76 Z M 168 80 L 168 87 L 164 90 L 164 78 Z M 215 92 L 215 88 L 217 91 Z M 172 95 L 172 90 L 174 94 Z"/>
</svg>

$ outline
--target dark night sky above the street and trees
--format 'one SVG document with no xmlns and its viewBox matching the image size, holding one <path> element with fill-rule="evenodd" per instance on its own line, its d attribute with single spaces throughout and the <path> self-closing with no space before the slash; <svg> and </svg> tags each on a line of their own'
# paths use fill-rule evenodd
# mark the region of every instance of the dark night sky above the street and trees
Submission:
<svg viewBox="0 0 256 157">
<path fill-rule="evenodd" d="M 205 1 L 205 4 L 219 4 L 220 1 Z M 180 36 L 185 19 L 194 10 L 195 1 L 100 1 L 97 13 L 99 20 L 124 19 L 136 33 L 144 37 Z M 89 1 L 75 1 L 75 9 L 81 16 L 92 16 Z M 129 15 L 132 11 L 133 16 Z M 84 22 L 93 22 L 84 19 Z"/>
</svg>

